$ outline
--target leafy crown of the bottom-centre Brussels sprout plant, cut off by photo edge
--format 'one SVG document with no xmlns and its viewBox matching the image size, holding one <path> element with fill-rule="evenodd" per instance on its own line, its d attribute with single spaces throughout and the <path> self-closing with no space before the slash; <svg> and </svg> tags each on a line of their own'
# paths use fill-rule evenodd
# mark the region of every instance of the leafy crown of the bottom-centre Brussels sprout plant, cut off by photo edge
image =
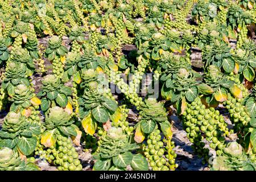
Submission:
<svg viewBox="0 0 256 182">
<path fill-rule="evenodd" d="M 93 167 L 94 170 L 111 170 L 117 168 L 125 170 L 130 164 L 134 170 L 147 170 L 148 164 L 146 159 L 141 155 L 134 155 L 131 151 L 137 149 L 136 143 L 131 143 L 130 138 L 123 134 L 121 128 L 112 127 L 108 134 L 102 138 L 94 158 L 97 159 Z"/>
</svg>

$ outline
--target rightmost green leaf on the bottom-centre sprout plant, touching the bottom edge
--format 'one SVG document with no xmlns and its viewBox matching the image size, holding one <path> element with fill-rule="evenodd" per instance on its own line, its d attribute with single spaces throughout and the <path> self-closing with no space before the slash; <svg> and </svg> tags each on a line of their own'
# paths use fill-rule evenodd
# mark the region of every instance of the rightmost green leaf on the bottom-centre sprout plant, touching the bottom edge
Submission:
<svg viewBox="0 0 256 182">
<path fill-rule="evenodd" d="M 131 160 L 131 168 L 134 171 L 148 171 L 148 162 L 142 154 L 136 154 Z"/>
</svg>

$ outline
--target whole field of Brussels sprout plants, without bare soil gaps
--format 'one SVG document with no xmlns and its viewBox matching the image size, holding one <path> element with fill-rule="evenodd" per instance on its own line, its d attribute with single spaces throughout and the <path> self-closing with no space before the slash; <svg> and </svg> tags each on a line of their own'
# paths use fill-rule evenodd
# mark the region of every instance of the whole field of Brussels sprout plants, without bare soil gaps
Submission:
<svg viewBox="0 0 256 182">
<path fill-rule="evenodd" d="M 80 171 L 77 146 L 175 170 L 172 114 L 202 165 L 255 170 L 255 23 L 254 0 L 0 0 L 0 170 Z"/>
</svg>

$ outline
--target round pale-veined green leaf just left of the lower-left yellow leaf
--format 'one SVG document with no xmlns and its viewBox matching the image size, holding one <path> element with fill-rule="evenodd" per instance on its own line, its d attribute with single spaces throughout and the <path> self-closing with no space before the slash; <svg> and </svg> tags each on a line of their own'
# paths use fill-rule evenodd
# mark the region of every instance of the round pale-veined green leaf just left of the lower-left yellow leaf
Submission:
<svg viewBox="0 0 256 182">
<path fill-rule="evenodd" d="M 20 152 L 24 155 L 30 155 L 35 150 L 37 139 L 36 137 L 31 138 L 19 138 L 18 147 Z"/>
</svg>

